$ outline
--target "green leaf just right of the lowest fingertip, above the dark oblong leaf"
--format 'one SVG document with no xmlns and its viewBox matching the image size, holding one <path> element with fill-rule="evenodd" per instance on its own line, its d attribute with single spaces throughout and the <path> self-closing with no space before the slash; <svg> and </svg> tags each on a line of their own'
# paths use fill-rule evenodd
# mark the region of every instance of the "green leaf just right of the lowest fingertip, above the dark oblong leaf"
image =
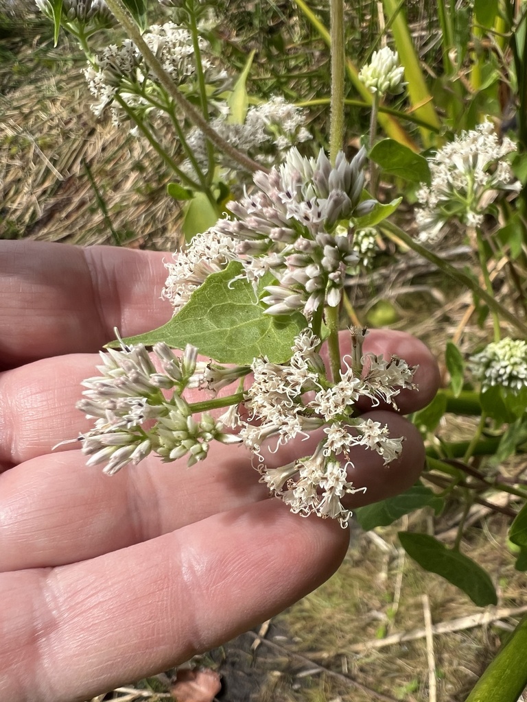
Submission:
<svg viewBox="0 0 527 702">
<path fill-rule="evenodd" d="M 438 514 L 443 509 L 443 503 L 444 500 L 434 494 L 431 489 L 417 483 L 400 495 L 389 497 L 387 500 L 375 502 L 372 505 L 358 507 L 353 510 L 353 514 L 364 531 L 370 531 L 375 527 L 388 527 L 396 519 L 422 507 L 434 508 L 434 512 Z"/>
</svg>

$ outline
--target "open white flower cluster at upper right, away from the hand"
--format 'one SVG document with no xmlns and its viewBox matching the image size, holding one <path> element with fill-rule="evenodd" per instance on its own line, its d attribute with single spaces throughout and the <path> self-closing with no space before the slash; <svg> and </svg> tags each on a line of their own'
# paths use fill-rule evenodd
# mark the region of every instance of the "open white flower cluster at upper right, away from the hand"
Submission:
<svg viewBox="0 0 527 702">
<path fill-rule="evenodd" d="M 507 137 L 500 142 L 489 121 L 463 132 L 438 150 L 429 159 L 431 185 L 422 185 L 417 192 L 422 205 L 415 213 L 419 239 L 433 243 L 441 227 L 452 218 L 467 226 L 479 226 L 498 191 L 519 192 L 521 183 L 514 180 L 505 159 L 514 151 L 516 145 Z"/>
</svg>

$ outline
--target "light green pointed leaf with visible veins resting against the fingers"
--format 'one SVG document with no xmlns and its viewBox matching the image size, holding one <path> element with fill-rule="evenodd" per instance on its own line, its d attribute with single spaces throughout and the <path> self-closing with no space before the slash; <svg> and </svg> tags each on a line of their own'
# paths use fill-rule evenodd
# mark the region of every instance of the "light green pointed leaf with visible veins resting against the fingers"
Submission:
<svg viewBox="0 0 527 702">
<path fill-rule="evenodd" d="M 307 326 L 306 319 L 298 312 L 287 317 L 264 314 L 252 284 L 246 280 L 233 282 L 242 270 L 241 263 L 231 261 L 225 270 L 209 275 L 170 322 L 126 338 L 124 343 L 152 346 L 164 341 L 178 349 L 192 344 L 219 363 L 241 366 L 262 356 L 271 363 L 286 362 L 292 354 L 294 337 Z"/>
</svg>

